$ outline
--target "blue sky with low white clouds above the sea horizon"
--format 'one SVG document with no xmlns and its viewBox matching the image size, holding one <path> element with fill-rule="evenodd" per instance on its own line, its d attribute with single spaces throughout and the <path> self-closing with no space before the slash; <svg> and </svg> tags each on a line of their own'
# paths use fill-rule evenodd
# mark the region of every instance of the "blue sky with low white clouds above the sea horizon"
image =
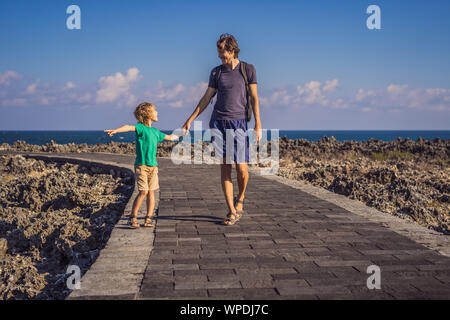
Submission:
<svg viewBox="0 0 450 320">
<path fill-rule="evenodd" d="M 81 8 L 81 30 L 66 9 Z M 369 30 L 366 9 L 381 9 Z M 0 130 L 180 127 L 233 34 L 264 128 L 450 129 L 449 1 L 0 2 Z M 210 105 L 200 116 L 203 125 Z"/>
</svg>

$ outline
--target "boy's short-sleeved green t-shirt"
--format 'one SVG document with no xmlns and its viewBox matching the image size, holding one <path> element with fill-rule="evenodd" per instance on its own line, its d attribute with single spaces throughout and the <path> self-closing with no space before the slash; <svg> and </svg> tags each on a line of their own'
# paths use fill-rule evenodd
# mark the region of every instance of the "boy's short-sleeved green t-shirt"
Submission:
<svg viewBox="0 0 450 320">
<path fill-rule="evenodd" d="M 164 140 L 165 133 L 156 128 L 148 127 L 142 123 L 136 128 L 136 161 L 135 165 L 157 166 L 156 146 Z"/>
</svg>

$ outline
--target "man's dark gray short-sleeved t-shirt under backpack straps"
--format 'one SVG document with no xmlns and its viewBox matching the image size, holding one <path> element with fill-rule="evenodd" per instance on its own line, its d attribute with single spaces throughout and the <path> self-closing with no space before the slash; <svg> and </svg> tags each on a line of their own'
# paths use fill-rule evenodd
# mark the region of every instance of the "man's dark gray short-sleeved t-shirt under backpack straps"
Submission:
<svg viewBox="0 0 450 320">
<path fill-rule="evenodd" d="M 216 84 L 216 68 L 211 70 L 208 87 L 217 89 L 217 101 L 211 119 L 214 120 L 240 120 L 246 118 L 245 108 L 247 94 L 244 76 L 241 73 L 241 62 L 233 69 L 228 69 L 223 64 Z M 256 69 L 247 63 L 248 83 L 256 83 Z"/>
</svg>

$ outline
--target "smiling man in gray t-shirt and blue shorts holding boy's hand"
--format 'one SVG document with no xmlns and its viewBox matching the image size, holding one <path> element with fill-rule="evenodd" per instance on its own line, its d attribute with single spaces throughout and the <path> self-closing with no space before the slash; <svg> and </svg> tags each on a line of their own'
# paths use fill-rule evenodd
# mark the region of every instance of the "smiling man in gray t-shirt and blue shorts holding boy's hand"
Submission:
<svg viewBox="0 0 450 320">
<path fill-rule="evenodd" d="M 243 145 L 245 159 L 242 159 L 242 157 L 239 157 L 239 155 L 242 155 L 242 152 L 236 154 L 236 146 L 234 146 L 233 150 L 226 149 L 225 137 L 227 129 L 231 129 L 233 132 L 244 132 L 247 134 L 247 92 L 244 76 L 241 72 L 240 61 L 238 60 L 240 50 L 236 39 L 232 35 L 223 34 L 220 36 L 216 45 L 222 65 L 211 71 L 208 88 L 206 89 L 204 96 L 200 99 L 197 108 L 195 108 L 189 119 L 186 120 L 182 129 L 185 130 L 185 132 L 189 131 L 191 122 L 206 109 L 217 91 L 217 101 L 214 105 L 214 111 L 211 115 L 209 126 L 211 129 L 219 130 L 223 137 L 223 143 L 214 140 L 216 137 L 213 137 L 212 142 L 216 153 L 223 154 L 223 163 L 220 164 L 221 181 L 222 190 L 229 208 L 229 213 L 223 223 L 225 225 L 233 225 L 243 214 L 245 189 L 247 188 L 248 183 L 247 163 L 249 160 L 249 144 L 248 139 L 246 138 Z M 259 117 L 256 70 L 251 64 L 247 64 L 246 67 L 250 99 L 252 100 L 253 115 L 255 118 L 256 143 L 259 143 L 262 130 Z M 240 139 L 238 138 L 237 140 L 237 149 L 239 149 Z M 233 201 L 233 183 L 231 180 L 232 164 L 229 163 L 225 157 L 225 155 L 229 155 L 230 153 L 234 153 L 233 160 L 236 163 L 239 188 L 239 194 L 235 198 L 235 201 Z"/>
</svg>

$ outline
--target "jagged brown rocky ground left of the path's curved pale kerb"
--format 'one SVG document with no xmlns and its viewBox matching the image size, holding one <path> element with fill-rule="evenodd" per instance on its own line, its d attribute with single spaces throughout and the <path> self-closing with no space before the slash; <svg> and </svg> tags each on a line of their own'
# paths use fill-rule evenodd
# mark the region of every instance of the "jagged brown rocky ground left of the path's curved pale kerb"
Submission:
<svg viewBox="0 0 450 320">
<path fill-rule="evenodd" d="M 133 183 L 131 173 L 0 156 L 0 300 L 64 299 L 67 267 L 89 269 Z"/>
</svg>

